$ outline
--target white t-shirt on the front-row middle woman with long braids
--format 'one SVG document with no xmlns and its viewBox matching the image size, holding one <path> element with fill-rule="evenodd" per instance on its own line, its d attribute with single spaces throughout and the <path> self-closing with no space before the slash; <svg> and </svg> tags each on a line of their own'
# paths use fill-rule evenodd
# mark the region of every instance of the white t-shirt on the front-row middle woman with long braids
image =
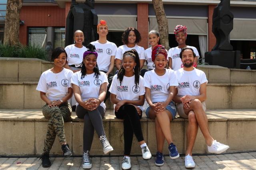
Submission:
<svg viewBox="0 0 256 170">
<path fill-rule="evenodd" d="M 145 94 L 144 80 L 140 76 L 139 84 L 135 85 L 135 75 L 132 77 L 124 76 L 122 83 L 120 85 L 119 79 L 117 79 L 117 74 L 114 75 L 112 84 L 109 88 L 109 92 L 116 95 L 118 100 L 139 100 L 139 96 Z M 114 107 L 116 105 L 114 104 Z M 142 110 L 141 106 L 140 109 Z"/>
</svg>

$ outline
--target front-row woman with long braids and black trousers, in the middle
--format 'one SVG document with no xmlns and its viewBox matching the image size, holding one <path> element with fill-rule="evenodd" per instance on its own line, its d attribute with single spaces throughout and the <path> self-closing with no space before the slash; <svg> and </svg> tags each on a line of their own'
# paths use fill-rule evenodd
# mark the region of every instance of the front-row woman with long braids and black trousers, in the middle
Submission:
<svg viewBox="0 0 256 170">
<path fill-rule="evenodd" d="M 113 77 L 110 86 L 110 99 L 114 103 L 114 113 L 118 119 L 124 119 L 124 159 L 123 169 L 131 168 L 130 152 L 133 133 L 142 149 L 142 157 L 150 159 L 151 153 L 144 141 L 140 119 L 144 103 L 144 81 L 140 76 L 140 59 L 137 51 L 124 52 L 122 65 Z"/>
</svg>

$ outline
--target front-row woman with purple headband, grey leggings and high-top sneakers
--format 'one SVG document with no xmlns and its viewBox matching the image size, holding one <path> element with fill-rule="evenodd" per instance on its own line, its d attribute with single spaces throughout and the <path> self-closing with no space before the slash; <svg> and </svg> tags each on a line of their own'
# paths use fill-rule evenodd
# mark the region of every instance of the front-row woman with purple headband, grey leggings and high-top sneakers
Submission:
<svg viewBox="0 0 256 170">
<path fill-rule="evenodd" d="M 102 123 L 106 111 L 106 105 L 103 101 L 106 97 L 108 78 L 97 66 L 98 54 L 94 45 L 88 44 L 86 48 L 88 50 L 84 52 L 82 69 L 74 73 L 71 84 L 78 103 L 76 115 L 78 118 L 84 119 L 82 166 L 84 169 L 89 169 L 92 167 L 89 152 L 94 130 L 100 139 L 104 154 L 108 154 L 113 148 L 108 142 Z"/>
</svg>

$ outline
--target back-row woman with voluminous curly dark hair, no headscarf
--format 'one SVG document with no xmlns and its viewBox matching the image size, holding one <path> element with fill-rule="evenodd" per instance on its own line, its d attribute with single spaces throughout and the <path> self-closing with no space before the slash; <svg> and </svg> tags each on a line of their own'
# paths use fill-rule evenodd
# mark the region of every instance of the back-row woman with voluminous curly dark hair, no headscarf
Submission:
<svg viewBox="0 0 256 170">
<path fill-rule="evenodd" d="M 134 27 L 128 27 L 124 30 L 122 35 L 122 42 L 124 45 L 118 47 L 116 51 L 115 63 L 116 68 L 119 70 L 122 64 L 122 57 L 125 51 L 135 49 L 140 58 L 140 69 L 143 67 L 145 62 L 144 48 L 137 45 L 141 40 L 140 32 Z"/>
</svg>

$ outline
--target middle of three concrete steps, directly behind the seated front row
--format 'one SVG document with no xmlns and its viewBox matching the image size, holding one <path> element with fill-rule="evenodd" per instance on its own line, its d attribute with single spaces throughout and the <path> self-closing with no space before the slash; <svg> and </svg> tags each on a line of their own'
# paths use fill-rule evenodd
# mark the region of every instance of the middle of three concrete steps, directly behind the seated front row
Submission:
<svg viewBox="0 0 256 170">
<path fill-rule="evenodd" d="M 38 82 L 0 82 L 0 109 L 40 109 Z M 256 109 L 256 84 L 207 84 L 208 109 Z M 106 106 L 113 108 L 108 99 Z"/>
</svg>

